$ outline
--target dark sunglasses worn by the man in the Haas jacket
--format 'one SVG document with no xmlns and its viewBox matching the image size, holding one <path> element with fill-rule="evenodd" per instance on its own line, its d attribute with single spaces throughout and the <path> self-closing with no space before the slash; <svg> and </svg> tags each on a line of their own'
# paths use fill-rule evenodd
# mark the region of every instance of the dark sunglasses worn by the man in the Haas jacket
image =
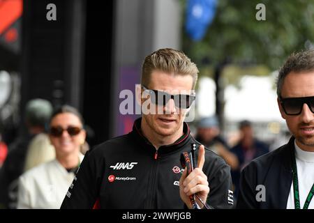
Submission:
<svg viewBox="0 0 314 223">
<path fill-rule="evenodd" d="M 195 100 L 195 95 L 186 94 L 170 95 L 165 91 L 147 89 L 147 87 L 145 87 L 144 85 L 142 85 L 142 88 L 144 89 L 144 91 L 149 93 L 151 102 L 154 103 L 155 105 L 165 106 L 171 98 L 174 100 L 174 105 L 179 109 L 188 109 Z"/>
</svg>

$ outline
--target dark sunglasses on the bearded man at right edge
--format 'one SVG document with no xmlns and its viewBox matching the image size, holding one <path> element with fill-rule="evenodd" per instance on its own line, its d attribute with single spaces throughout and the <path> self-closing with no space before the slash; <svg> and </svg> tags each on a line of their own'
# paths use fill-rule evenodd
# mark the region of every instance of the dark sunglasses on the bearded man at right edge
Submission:
<svg viewBox="0 0 314 223">
<path fill-rule="evenodd" d="M 279 98 L 283 111 L 289 116 L 297 116 L 301 114 L 303 105 L 308 105 L 308 108 L 314 113 L 314 96 L 301 98 Z"/>
</svg>

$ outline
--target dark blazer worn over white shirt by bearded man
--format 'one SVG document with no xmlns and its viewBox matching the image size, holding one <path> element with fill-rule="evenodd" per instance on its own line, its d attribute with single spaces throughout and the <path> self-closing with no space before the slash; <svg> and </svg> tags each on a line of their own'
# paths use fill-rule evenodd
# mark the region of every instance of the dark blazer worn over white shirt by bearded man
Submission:
<svg viewBox="0 0 314 223">
<path fill-rule="evenodd" d="M 288 144 L 248 164 L 241 172 L 237 208 L 285 209 L 292 184 L 292 159 L 294 137 Z M 257 201 L 256 195 L 261 192 L 257 185 L 264 185 L 265 201 Z"/>
</svg>

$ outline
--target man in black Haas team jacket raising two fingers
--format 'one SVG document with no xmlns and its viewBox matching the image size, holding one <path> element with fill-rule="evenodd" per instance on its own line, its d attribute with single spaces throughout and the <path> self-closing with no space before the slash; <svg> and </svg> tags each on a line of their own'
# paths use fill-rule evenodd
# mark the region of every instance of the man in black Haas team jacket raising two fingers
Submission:
<svg viewBox="0 0 314 223">
<path fill-rule="evenodd" d="M 142 118 L 130 133 L 87 152 L 61 208 L 231 208 L 230 167 L 184 122 L 197 73 L 181 51 L 147 56 L 137 91 Z M 184 170 L 181 153 L 193 148 L 195 169 Z"/>
</svg>

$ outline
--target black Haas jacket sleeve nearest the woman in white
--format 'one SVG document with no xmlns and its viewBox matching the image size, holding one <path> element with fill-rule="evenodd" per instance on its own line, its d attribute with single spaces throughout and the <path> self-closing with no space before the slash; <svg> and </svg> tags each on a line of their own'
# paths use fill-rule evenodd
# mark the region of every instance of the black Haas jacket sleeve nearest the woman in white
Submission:
<svg viewBox="0 0 314 223">
<path fill-rule="evenodd" d="M 98 199 L 101 184 L 100 171 L 102 171 L 103 160 L 93 151 L 87 151 L 80 169 L 70 185 L 61 209 L 68 208 L 93 208 Z"/>
</svg>

